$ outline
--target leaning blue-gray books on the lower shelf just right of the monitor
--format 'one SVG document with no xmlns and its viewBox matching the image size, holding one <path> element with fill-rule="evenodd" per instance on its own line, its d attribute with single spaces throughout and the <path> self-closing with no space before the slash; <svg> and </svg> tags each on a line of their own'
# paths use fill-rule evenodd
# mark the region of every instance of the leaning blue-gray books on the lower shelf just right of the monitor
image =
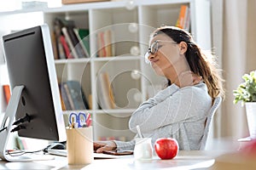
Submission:
<svg viewBox="0 0 256 170">
<path fill-rule="evenodd" d="M 78 81 L 59 84 L 63 111 L 89 110 L 90 106 Z"/>
</svg>

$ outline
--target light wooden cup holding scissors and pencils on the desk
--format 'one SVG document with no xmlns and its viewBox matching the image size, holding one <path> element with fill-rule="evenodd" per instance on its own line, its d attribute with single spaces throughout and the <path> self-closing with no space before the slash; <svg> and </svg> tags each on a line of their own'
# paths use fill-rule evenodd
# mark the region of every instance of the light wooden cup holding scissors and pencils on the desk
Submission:
<svg viewBox="0 0 256 170">
<path fill-rule="evenodd" d="M 66 132 L 68 164 L 90 164 L 93 160 L 92 127 L 67 128 Z"/>
</svg>

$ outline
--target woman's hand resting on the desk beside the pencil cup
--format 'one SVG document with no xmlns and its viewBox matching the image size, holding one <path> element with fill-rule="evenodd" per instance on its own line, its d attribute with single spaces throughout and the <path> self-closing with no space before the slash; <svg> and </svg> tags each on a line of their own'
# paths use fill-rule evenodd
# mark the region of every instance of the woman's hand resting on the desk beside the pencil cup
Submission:
<svg viewBox="0 0 256 170">
<path fill-rule="evenodd" d="M 117 145 L 113 141 L 96 141 L 93 142 L 93 150 L 96 153 L 102 153 L 103 150 L 116 150 Z"/>
</svg>

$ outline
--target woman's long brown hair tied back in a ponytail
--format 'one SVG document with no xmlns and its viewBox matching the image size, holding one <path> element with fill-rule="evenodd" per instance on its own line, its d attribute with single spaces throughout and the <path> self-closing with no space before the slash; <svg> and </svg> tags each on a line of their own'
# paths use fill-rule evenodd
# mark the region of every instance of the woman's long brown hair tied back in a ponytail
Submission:
<svg viewBox="0 0 256 170">
<path fill-rule="evenodd" d="M 171 37 L 174 42 L 186 42 L 188 44 L 185 57 L 189 63 L 190 71 L 202 77 L 202 80 L 207 84 L 208 94 L 212 99 L 215 99 L 218 95 L 224 97 L 224 80 L 220 77 L 220 71 L 217 70 L 213 55 L 204 53 L 188 31 L 175 26 L 161 26 L 153 32 L 153 37 L 162 33 Z M 171 84 L 172 82 L 168 80 L 168 85 Z"/>
</svg>

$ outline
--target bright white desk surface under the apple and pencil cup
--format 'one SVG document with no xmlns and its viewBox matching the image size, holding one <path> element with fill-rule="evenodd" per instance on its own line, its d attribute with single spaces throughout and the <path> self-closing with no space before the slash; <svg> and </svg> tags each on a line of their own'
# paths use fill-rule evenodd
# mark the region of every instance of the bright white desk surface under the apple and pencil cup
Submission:
<svg viewBox="0 0 256 170">
<path fill-rule="evenodd" d="M 207 168 L 214 164 L 214 157 L 221 155 L 222 151 L 179 151 L 172 160 L 160 160 L 154 156 L 150 160 L 136 161 L 133 156 L 122 156 L 117 159 L 95 159 L 86 166 L 68 165 L 67 157 L 55 156 L 49 161 L 29 161 L 29 162 L 7 162 L 0 161 L 0 169 L 181 169 Z M 178 169 L 179 169 L 178 168 Z"/>
</svg>

